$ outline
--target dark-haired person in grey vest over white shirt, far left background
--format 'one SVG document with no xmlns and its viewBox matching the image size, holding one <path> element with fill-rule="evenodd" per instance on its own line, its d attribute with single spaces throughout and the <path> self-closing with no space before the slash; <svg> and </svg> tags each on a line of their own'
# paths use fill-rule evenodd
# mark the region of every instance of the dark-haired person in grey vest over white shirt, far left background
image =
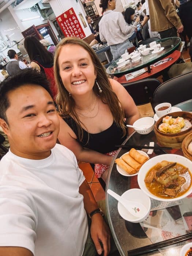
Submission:
<svg viewBox="0 0 192 256">
<path fill-rule="evenodd" d="M 18 60 L 18 55 L 14 50 L 8 50 L 7 55 L 10 57 L 10 61 L 6 65 L 6 70 L 10 76 L 18 73 L 21 69 L 27 68 L 23 61 Z"/>
</svg>

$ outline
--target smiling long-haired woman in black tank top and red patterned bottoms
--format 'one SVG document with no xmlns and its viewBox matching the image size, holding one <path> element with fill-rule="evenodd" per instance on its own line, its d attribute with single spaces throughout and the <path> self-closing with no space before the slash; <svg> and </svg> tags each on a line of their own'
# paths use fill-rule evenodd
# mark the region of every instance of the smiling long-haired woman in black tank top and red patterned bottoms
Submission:
<svg viewBox="0 0 192 256">
<path fill-rule="evenodd" d="M 59 141 L 80 161 L 95 163 L 96 177 L 106 181 L 116 144 L 127 136 L 138 109 L 121 84 L 109 79 L 94 50 L 78 38 L 57 46 L 54 75 L 60 112 Z"/>
</svg>

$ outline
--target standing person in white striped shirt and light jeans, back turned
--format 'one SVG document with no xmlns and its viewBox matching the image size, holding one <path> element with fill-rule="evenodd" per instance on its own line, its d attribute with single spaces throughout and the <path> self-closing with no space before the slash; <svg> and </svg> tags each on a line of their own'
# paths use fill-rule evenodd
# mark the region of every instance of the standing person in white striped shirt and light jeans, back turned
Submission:
<svg viewBox="0 0 192 256">
<path fill-rule="evenodd" d="M 125 50 L 133 46 L 129 41 L 129 34 L 137 31 L 135 25 L 129 26 L 121 12 L 114 12 L 116 0 L 101 0 L 99 7 L 103 10 L 103 17 L 99 22 L 99 35 L 102 42 L 110 45 L 113 59 L 117 60 Z"/>
</svg>

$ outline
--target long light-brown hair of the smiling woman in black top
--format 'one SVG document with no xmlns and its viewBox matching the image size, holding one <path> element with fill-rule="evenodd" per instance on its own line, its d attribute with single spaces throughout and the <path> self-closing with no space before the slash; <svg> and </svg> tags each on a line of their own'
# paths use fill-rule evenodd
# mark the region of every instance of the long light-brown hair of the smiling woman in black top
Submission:
<svg viewBox="0 0 192 256">
<path fill-rule="evenodd" d="M 56 98 L 56 103 L 58 105 L 59 113 L 62 117 L 71 116 L 74 118 L 78 128 L 78 137 L 79 140 L 83 139 L 83 128 L 81 124 L 84 124 L 79 120 L 79 117 L 75 111 L 75 101 L 72 97 L 69 96 L 69 92 L 65 89 L 65 86 L 60 77 L 59 71 L 59 54 L 61 48 L 64 45 L 80 45 L 82 46 L 90 55 L 91 60 L 93 61 L 95 74 L 97 73 L 97 82 L 101 87 L 102 93 L 99 93 L 99 89 L 97 84 L 95 83 L 93 86 L 93 91 L 97 97 L 101 98 L 102 102 L 109 106 L 109 109 L 112 113 L 113 119 L 115 123 L 123 129 L 123 136 L 126 134 L 126 129 L 124 125 L 124 112 L 121 109 L 120 102 L 117 98 L 117 95 L 112 90 L 112 86 L 108 80 L 108 76 L 105 72 L 105 68 L 101 64 L 101 61 L 98 59 L 94 50 L 82 39 L 76 37 L 66 37 L 63 38 L 60 43 L 56 47 L 55 55 L 54 55 L 54 78 L 56 80 L 58 94 Z M 78 53 L 74 53 L 78 54 Z M 94 75 L 94 74 L 93 74 Z"/>
</svg>

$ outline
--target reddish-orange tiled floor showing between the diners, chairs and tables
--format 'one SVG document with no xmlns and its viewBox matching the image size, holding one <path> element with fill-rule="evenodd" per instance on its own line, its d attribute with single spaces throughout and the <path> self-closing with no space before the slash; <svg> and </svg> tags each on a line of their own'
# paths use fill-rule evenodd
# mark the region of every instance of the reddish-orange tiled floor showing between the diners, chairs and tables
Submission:
<svg viewBox="0 0 192 256">
<path fill-rule="evenodd" d="M 183 49 L 181 57 L 185 60 L 185 62 L 191 62 L 191 58 L 189 56 L 189 47 L 188 47 L 187 51 L 185 49 Z M 158 79 L 162 81 L 161 76 Z M 141 116 L 153 115 L 153 109 L 151 108 L 151 106 L 149 104 L 139 106 L 138 109 L 139 109 Z M 99 200 L 104 199 L 105 191 L 101 187 L 98 179 L 95 177 L 93 169 L 91 168 L 90 164 L 89 163 L 80 163 L 79 167 L 80 167 L 80 169 L 82 169 L 84 176 L 91 187 L 91 190 L 93 192 L 95 200 L 99 201 Z"/>
</svg>

